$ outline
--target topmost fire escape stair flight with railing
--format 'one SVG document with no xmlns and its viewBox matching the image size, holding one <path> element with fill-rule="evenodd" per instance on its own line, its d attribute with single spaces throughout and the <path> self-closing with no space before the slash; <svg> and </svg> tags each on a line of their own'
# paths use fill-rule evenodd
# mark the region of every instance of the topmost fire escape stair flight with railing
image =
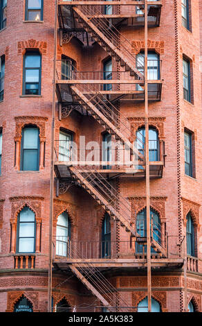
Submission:
<svg viewBox="0 0 202 326">
<path fill-rule="evenodd" d="M 144 80 L 144 75 L 135 66 L 136 57 L 131 54 L 130 42 L 116 29 L 115 26 L 105 23 L 103 19 L 95 19 L 93 15 L 95 12 L 91 12 L 87 6 L 83 6 L 82 10 L 77 7 L 73 7 L 75 19 L 80 23 L 83 28 L 88 32 L 93 39 L 102 46 L 116 61 L 120 62 L 121 67 L 125 67 L 126 71 L 129 71 L 131 76 L 134 76 L 136 80 Z M 101 12 L 97 12 L 102 15 Z M 86 16 L 91 16 L 89 19 Z M 104 17 L 104 16 L 103 16 Z M 141 70 L 144 69 L 144 59 L 138 59 L 138 65 L 141 66 Z"/>
</svg>

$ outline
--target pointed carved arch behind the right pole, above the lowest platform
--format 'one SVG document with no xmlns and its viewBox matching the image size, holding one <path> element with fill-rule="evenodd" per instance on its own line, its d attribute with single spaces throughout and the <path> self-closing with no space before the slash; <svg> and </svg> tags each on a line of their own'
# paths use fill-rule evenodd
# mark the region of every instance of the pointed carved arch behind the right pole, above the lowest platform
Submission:
<svg viewBox="0 0 202 326">
<path fill-rule="evenodd" d="M 136 218 L 137 214 L 146 207 L 146 197 L 129 197 L 131 202 L 131 218 Z M 150 197 L 150 206 L 159 214 L 161 223 L 166 221 L 165 201 L 167 197 Z"/>
</svg>

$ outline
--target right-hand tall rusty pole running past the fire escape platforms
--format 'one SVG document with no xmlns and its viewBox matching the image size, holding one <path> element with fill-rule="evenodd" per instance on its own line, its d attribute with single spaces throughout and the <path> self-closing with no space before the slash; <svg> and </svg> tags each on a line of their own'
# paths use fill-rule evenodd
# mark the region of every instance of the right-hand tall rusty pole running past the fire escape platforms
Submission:
<svg viewBox="0 0 202 326">
<path fill-rule="evenodd" d="M 147 81 L 147 0 L 145 0 L 145 164 L 146 164 L 146 203 L 147 203 L 147 298 L 148 312 L 152 311 L 152 276 L 151 276 L 151 234 L 150 234 L 150 194 L 149 194 L 149 119 L 148 119 L 148 81 Z"/>
</svg>

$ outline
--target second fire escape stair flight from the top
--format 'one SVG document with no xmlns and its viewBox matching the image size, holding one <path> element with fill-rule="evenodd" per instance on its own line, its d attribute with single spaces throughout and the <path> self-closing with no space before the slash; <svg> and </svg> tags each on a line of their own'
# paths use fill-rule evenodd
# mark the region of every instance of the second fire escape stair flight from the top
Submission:
<svg viewBox="0 0 202 326">
<path fill-rule="evenodd" d="M 82 86 L 80 85 L 80 88 Z M 144 144 L 140 139 L 138 140 L 138 148 L 135 147 L 133 142 L 129 141 L 131 137 L 131 130 L 127 128 L 127 119 L 120 119 L 118 110 L 102 96 L 99 92 L 91 91 L 93 96 L 83 94 L 75 85 L 71 86 L 75 99 L 98 121 L 111 135 L 114 135 L 116 139 L 119 139 L 122 144 L 125 144 L 128 148 L 131 148 L 131 153 L 138 157 L 138 160 L 142 160 L 144 163 Z M 102 98 L 103 97 L 103 98 Z M 111 106 L 111 108 L 109 107 Z M 110 121 L 111 120 L 111 121 Z"/>
</svg>

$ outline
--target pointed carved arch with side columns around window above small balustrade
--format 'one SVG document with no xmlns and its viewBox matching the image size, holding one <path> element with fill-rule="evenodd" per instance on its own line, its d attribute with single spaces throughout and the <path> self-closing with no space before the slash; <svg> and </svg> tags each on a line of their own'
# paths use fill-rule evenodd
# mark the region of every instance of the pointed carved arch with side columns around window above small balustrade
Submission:
<svg viewBox="0 0 202 326">
<path fill-rule="evenodd" d="M 35 213 L 36 220 L 36 252 L 39 252 L 40 248 L 40 237 L 41 237 L 41 224 L 42 224 L 42 200 L 44 197 L 37 196 L 19 196 L 19 197 L 10 197 L 11 202 L 11 216 L 10 216 L 10 224 L 11 224 L 11 251 L 15 253 L 16 250 L 16 232 L 17 232 L 17 216 L 19 212 L 24 207 L 29 207 Z"/>
</svg>

